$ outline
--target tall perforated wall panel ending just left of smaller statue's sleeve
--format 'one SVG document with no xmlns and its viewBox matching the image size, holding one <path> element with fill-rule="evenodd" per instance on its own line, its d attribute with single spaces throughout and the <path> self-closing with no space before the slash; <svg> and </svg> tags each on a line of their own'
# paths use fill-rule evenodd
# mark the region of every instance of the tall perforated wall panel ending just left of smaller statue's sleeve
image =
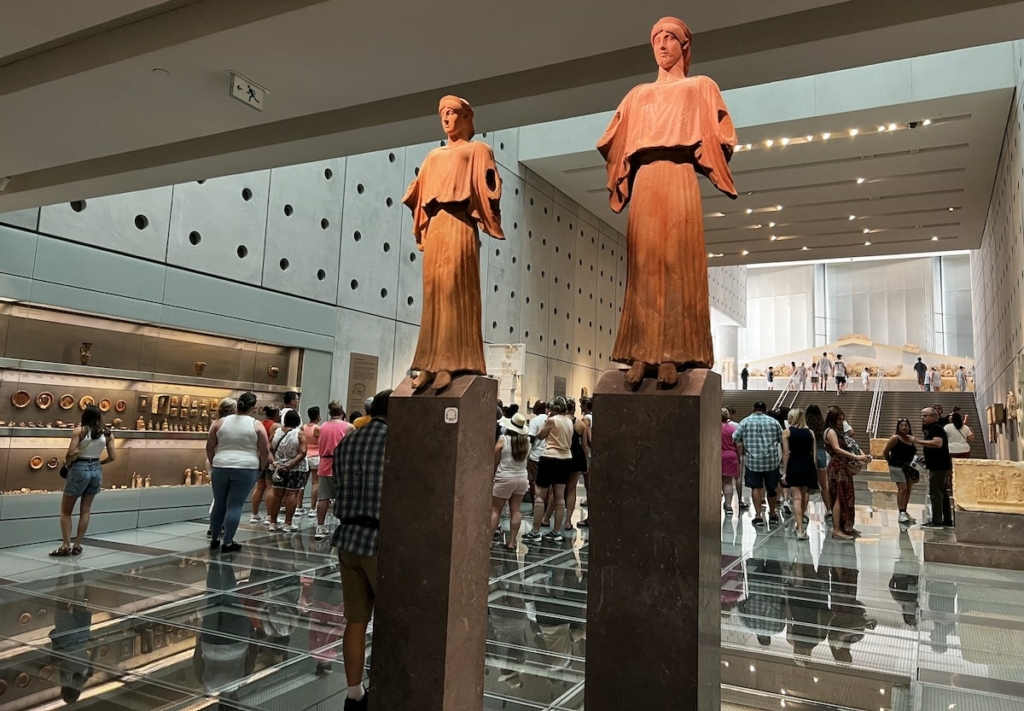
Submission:
<svg viewBox="0 0 1024 711">
<path fill-rule="evenodd" d="M 346 165 L 338 305 L 395 319 L 406 152 L 351 156 Z"/>
</svg>

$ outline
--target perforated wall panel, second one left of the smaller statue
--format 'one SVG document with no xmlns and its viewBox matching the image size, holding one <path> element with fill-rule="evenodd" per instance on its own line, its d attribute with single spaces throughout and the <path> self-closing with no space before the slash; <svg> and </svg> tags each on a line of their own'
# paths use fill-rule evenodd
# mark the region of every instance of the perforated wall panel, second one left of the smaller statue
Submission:
<svg viewBox="0 0 1024 711">
<path fill-rule="evenodd" d="M 344 159 L 270 171 L 264 287 L 337 302 L 344 180 Z"/>
</svg>

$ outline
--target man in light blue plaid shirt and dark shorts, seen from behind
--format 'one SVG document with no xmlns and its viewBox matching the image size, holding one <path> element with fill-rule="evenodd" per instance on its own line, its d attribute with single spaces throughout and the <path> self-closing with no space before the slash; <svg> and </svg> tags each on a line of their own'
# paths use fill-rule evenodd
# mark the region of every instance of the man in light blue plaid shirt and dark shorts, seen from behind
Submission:
<svg viewBox="0 0 1024 711">
<path fill-rule="evenodd" d="M 743 419 L 732 433 L 736 451 L 743 458 L 743 482 L 754 499 L 754 526 L 764 526 L 761 507 L 764 505 L 765 490 L 768 490 L 768 520 L 779 520 L 775 514 L 778 500 L 778 482 L 781 478 L 779 464 L 782 462 L 782 426 L 766 414 L 767 406 L 754 404 L 754 413 Z"/>
</svg>

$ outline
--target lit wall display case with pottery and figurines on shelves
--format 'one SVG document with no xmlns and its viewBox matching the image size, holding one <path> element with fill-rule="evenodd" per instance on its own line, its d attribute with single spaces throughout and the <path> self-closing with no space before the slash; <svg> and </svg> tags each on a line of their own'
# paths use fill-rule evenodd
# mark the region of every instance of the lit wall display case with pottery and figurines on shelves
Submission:
<svg viewBox="0 0 1024 711">
<path fill-rule="evenodd" d="M 301 367 L 299 348 L 0 303 L 0 493 L 59 491 L 70 430 L 93 404 L 118 449 L 104 488 L 204 484 L 220 401 L 253 390 L 257 407 L 280 405 Z"/>
</svg>

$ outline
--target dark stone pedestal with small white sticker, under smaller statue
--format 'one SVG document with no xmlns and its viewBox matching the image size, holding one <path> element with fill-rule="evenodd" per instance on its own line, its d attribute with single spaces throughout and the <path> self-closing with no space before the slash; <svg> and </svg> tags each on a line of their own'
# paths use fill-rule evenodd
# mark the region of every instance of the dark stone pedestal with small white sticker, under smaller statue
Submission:
<svg viewBox="0 0 1024 711">
<path fill-rule="evenodd" d="M 483 707 L 498 383 L 462 376 L 440 393 L 411 383 L 388 408 L 371 709 L 473 711 Z"/>
</svg>

